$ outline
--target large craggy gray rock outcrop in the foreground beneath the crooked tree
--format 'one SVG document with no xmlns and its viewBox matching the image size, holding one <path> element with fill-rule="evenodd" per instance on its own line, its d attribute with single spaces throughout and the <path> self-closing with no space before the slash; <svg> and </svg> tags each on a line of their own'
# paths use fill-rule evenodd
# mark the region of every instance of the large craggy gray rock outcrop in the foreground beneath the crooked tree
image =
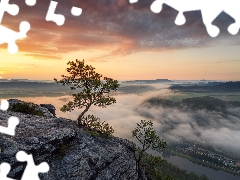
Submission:
<svg viewBox="0 0 240 180">
<path fill-rule="evenodd" d="M 0 111 L 0 126 L 16 116 L 20 124 L 15 136 L 0 134 L 0 164 L 11 164 L 9 177 L 21 179 L 26 163 L 15 155 L 32 154 L 35 164 L 46 161 L 50 170 L 42 180 L 137 180 L 135 144 L 120 138 L 92 137 L 75 121 Z M 145 178 L 144 178 L 145 179 Z"/>
</svg>

